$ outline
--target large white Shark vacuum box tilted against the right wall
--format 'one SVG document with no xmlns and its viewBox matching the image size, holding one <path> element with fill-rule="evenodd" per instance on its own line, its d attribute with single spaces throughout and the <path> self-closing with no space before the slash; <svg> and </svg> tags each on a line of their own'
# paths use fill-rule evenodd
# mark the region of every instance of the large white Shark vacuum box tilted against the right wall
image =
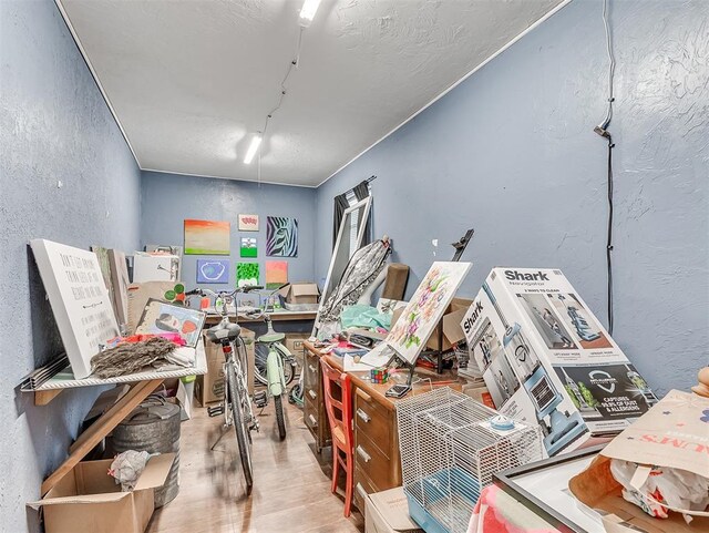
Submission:
<svg viewBox="0 0 709 533">
<path fill-rule="evenodd" d="M 548 455 L 608 440 L 657 398 L 561 270 L 493 268 L 461 327 L 497 410 Z"/>
</svg>

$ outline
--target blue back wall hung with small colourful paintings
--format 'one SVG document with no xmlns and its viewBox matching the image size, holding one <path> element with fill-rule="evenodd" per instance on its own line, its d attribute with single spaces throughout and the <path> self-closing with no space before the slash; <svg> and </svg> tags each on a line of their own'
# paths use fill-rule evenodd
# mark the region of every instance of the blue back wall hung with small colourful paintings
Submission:
<svg viewBox="0 0 709 533">
<path fill-rule="evenodd" d="M 251 182 L 218 180 L 144 172 L 141 243 L 184 245 L 185 218 L 228 221 L 232 223 L 230 285 L 202 285 L 224 290 L 236 284 L 237 262 L 258 262 L 260 283 L 266 283 L 266 260 L 288 262 L 289 281 L 312 281 L 315 278 L 315 195 L 314 188 L 267 185 Z M 238 215 L 259 215 L 259 232 L 239 232 Z M 289 216 L 298 219 L 298 257 L 266 257 L 266 216 Z M 240 237 L 256 237 L 258 257 L 240 258 Z M 182 280 L 187 288 L 196 286 L 197 259 L 226 256 L 185 255 Z"/>
</svg>

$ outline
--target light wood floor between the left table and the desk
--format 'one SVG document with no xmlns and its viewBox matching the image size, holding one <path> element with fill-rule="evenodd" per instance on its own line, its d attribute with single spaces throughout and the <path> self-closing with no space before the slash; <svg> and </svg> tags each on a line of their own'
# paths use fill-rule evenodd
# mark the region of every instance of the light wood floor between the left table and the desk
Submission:
<svg viewBox="0 0 709 533">
<path fill-rule="evenodd" d="M 236 435 L 230 430 L 214 451 L 222 417 L 208 418 L 195 407 L 182 423 L 179 494 L 153 515 L 148 533 L 363 532 L 361 514 L 342 516 L 343 498 L 330 492 L 330 449 L 318 455 L 302 422 L 288 404 L 288 435 L 275 431 L 273 402 L 253 433 L 254 490 L 244 490 Z M 340 479 L 340 489 L 343 479 Z"/>
</svg>

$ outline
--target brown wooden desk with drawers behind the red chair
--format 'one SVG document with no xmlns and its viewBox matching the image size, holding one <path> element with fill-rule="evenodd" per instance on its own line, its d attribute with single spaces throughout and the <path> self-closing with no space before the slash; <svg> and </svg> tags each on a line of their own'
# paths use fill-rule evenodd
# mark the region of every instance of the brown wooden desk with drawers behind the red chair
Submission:
<svg viewBox="0 0 709 533">
<path fill-rule="evenodd" d="M 316 439 L 316 448 L 330 444 L 330 431 L 322 401 L 322 372 L 320 357 L 330 366 L 342 370 L 337 357 L 322 356 L 311 344 L 306 342 L 306 426 Z M 310 375 L 310 365 L 317 370 Z M 397 428 L 395 401 L 384 392 L 390 383 L 373 385 L 364 379 L 368 372 L 349 372 L 352 383 L 352 413 L 354 419 L 354 504 L 363 513 L 367 494 L 401 485 L 401 459 L 399 455 L 399 431 Z M 451 375 L 434 376 L 434 380 L 451 379 Z M 308 381 L 310 380 L 310 381 Z M 460 390 L 458 383 L 451 387 Z M 312 390 L 311 394 L 309 390 Z M 428 392 L 430 387 L 415 387 L 413 393 Z M 410 398 L 411 393 L 407 396 Z M 310 418 L 312 417 L 312 418 Z M 323 437 L 327 429 L 327 438 Z M 327 439 L 327 440 L 326 440 Z"/>
</svg>

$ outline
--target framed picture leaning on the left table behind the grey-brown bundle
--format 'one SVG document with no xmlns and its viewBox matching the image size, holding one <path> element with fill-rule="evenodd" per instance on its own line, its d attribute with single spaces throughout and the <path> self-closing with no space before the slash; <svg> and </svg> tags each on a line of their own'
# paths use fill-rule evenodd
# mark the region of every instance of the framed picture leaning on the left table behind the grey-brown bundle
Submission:
<svg viewBox="0 0 709 533">
<path fill-rule="evenodd" d="M 151 298 L 137 322 L 136 334 L 179 334 L 187 346 L 197 346 L 206 315 L 197 309 Z"/>
</svg>

